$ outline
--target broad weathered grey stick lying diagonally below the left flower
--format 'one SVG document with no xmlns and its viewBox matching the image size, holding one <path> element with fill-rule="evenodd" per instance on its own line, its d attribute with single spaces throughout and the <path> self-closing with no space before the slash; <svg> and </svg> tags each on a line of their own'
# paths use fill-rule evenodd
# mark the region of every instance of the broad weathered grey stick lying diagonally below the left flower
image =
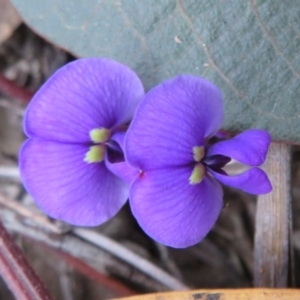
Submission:
<svg viewBox="0 0 300 300">
<path fill-rule="evenodd" d="M 34 222 L 31 222 L 29 226 L 25 226 L 24 219 L 22 218 L 22 216 L 24 216 L 23 209 L 19 209 L 17 206 L 7 206 L 8 201 L 13 202 L 14 200 L 8 199 L 4 197 L 4 195 L 1 195 L 1 197 L 4 201 L 2 203 L 0 201 L 0 217 L 3 217 L 6 228 L 10 231 L 17 232 L 41 243 L 45 243 L 50 247 L 67 252 L 70 255 L 83 260 L 100 273 L 126 278 L 130 282 L 142 286 L 147 290 L 165 291 L 170 289 L 166 288 L 157 280 L 135 270 L 132 266 L 118 260 L 104 250 L 75 237 L 72 233 L 55 234 L 54 236 L 53 233 L 64 232 L 64 229 L 61 226 L 58 226 L 57 229 L 53 231 L 52 226 L 48 226 L 44 221 L 41 222 L 40 218 L 34 218 Z M 22 204 L 19 204 L 19 206 L 23 207 Z M 28 207 L 27 210 L 29 210 Z M 38 215 L 39 213 L 36 214 Z M 25 216 L 27 216 L 27 214 L 25 214 Z M 29 219 L 27 222 L 28 221 Z M 50 223 L 49 220 L 48 223 Z"/>
</svg>

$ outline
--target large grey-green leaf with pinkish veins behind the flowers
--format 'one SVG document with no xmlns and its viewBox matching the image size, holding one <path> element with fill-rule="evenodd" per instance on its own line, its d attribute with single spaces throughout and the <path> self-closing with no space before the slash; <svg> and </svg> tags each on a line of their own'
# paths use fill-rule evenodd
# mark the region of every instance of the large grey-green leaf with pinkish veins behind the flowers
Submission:
<svg viewBox="0 0 300 300">
<path fill-rule="evenodd" d="M 129 65 L 147 89 L 180 73 L 222 90 L 224 127 L 300 143 L 298 0 L 12 0 L 35 30 L 80 56 Z"/>
</svg>

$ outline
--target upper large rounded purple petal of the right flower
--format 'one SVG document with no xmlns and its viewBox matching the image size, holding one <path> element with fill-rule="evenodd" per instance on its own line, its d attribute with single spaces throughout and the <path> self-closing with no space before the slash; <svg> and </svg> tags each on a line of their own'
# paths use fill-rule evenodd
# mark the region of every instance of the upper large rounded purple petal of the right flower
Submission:
<svg viewBox="0 0 300 300">
<path fill-rule="evenodd" d="M 129 126 L 125 156 L 142 170 L 183 166 L 192 148 L 219 130 L 223 121 L 220 91 L 209 81 L 181 75 L 146 94 Z"/>
</svg>

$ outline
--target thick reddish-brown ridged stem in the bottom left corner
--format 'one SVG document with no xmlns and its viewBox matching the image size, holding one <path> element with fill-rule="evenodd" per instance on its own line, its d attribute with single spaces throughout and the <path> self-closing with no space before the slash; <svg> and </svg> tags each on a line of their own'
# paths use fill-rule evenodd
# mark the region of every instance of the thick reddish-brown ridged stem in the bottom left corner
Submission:
<svg viewBox="0 0 300 300">
<path fill-rule="evenodd" d="M 51 300 L 51 296 L 30 267 L 21 249 L 0 222 L 0 275 L 16 297 L 22 300 Z"/>
</svg>

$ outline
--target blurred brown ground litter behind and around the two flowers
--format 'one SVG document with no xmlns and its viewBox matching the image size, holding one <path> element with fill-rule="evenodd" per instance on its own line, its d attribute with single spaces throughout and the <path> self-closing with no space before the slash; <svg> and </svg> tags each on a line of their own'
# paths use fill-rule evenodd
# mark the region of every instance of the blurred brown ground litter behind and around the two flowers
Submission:
<svg viewBox="0 0 300 300">
<path fill-rule="evenodd" d="M 76 59 L 36 35 L 7 0 L 0 0 L 0 218 L 26 254 L 54 299 L 108 299 L 167 291 L 165 281 L 119 260 L 112 252 L 43 216 L 24 190 L 18 152 L 25 139 L 24 110 L 31 95 L 59 67 Z M 294 284 L 300 287 L 300 148 L 293 146 Z M 209 235 L 187 249 L 162 246 L 147 237 L 125 207 L 106 224 L 91 230 L 110 237 L 139 258 L 177 279 L 177 288 L 253 286 L 256 199 L 225 188 L 224 209 Z M 292 274 L 291 274 L 292 275 Z M 176 285 L 176 284 L 175 284 Z M 174 288 L 174 287 L 173 287 Z M 176 287 L 175 287 L 176 288 Z M 0 299 L 13 299 L 0 281 Z"/>
</svg>

